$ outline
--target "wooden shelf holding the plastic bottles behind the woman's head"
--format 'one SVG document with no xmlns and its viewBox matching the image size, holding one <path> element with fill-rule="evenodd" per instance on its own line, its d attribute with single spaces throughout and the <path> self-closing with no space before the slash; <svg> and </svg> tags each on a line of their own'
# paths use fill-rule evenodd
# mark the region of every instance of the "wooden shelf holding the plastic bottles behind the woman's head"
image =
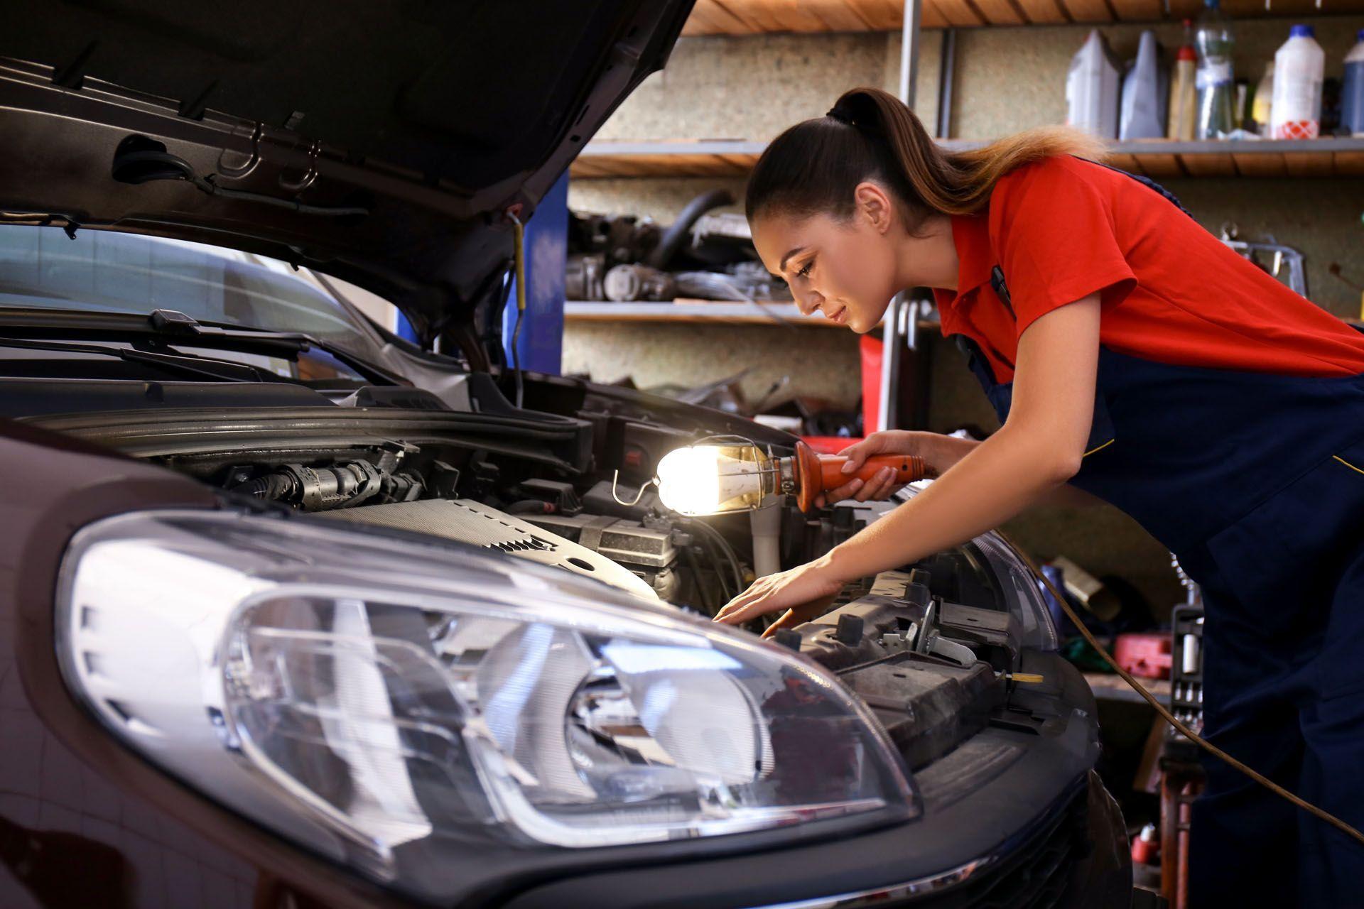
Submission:
<svg viewBox="0 0 1364 909">
<path fill-rule="evenodd" d="M 949 149 L 985 144 L 948 139 Z M 742 177 L 767 147 L 746 139 L 589 142 L 570 168 L 574 179 Z M 1364 138 L 1304 140 L 1109 143 L 1109 164 L 1151 177 L 1359 177 Z"/>
</svg>

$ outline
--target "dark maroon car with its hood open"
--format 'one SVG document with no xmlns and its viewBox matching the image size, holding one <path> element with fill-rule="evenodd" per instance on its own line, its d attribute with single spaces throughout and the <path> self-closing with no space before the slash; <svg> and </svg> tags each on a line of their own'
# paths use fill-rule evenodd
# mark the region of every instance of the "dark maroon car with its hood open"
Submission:
<svg viewBox="0 0 1364 909">
<path fill-rule="evenodd" d="M 1003 537 L 719 626 L 915 487 L 681 515 L 797 439 L 488 352 L 689 5 L 5 4 L 0 904 L 1129 905 Z"/>
</svg>

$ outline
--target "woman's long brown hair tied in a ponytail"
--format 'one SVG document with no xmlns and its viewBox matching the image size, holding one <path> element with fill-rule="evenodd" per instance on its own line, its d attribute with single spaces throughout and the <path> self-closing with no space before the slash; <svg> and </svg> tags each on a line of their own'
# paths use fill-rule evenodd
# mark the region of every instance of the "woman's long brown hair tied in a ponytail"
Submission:
<svg viewBox="0 0 1364 909">
<path fill-rule="evenodd" d="M 749 177 L 745 209 L 750 222 L 764 211 L 847 218 L 853 191 L 870 180 L 906 206 L 906 226 L 913 232 L 932 213 L 979 211 L 1009 170 L 1067 154 L 1101 159 L 1105 151 L 1098 140 L 1065 127 L 949 151 L 891 93 L 853 89 L 828 114 L 798 123 L 772 140 Z"/>
</svg>

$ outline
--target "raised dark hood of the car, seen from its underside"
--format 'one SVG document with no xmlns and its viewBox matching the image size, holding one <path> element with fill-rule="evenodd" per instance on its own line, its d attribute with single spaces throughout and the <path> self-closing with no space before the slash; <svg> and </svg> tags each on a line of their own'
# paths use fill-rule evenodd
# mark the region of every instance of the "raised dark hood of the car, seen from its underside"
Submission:
<svg viewBox="0 0 1364 909">
<path fill-rule="evenodd" d="M 692 3 L 7 0 L 0 218 L 274 256 L 431 338 L 499 293 L 505 213 L 663 67 Z"/>
</svg>

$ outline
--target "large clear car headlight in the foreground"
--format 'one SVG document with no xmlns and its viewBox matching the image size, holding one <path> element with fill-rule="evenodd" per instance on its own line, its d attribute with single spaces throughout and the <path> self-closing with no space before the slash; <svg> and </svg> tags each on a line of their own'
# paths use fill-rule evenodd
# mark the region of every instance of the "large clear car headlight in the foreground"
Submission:
<svg viewBox="0 0 1364 909">
<path fill-rule="evenodd" d="M 68 684 L 132 748 L 417 891 L 412 863 L 451 838 L 603 846 L 915 811 L 822 669 L 491 551 L 121 515 L 72 541 L 57 632 Z"/>
</svg>

